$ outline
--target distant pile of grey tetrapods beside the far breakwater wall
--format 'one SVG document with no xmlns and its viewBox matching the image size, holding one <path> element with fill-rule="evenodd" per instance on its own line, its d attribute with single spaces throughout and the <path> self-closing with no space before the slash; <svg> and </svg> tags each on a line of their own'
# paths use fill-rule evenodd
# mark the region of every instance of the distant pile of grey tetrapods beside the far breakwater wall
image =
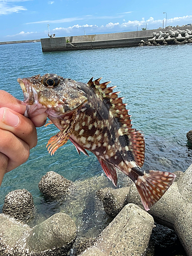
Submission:
<svg viewBox="0 0 192 256">
<path fill-rule="evenodd" d="M 174 30 L 170 28 L 168 32 L 153 32 L 153 38 L 147 41 L 141 40 L 139 46 L 158 46 L 158 45 L 181 45 L 192 42 L 192 30 Z"/>
</svg>

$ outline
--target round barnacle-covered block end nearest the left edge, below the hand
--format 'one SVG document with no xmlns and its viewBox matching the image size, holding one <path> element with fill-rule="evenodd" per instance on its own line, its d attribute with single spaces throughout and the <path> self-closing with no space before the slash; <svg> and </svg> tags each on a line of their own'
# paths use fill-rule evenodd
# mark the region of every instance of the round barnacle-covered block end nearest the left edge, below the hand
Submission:
<svg viewBox="0 0 192 256">
<path fill-rule="evenodd" d="M 17 189 L 9 192 L 5 197 L 3 214 L 26 222 L 34 215 L 33 197 L 26 189 Z"/>
</svg>

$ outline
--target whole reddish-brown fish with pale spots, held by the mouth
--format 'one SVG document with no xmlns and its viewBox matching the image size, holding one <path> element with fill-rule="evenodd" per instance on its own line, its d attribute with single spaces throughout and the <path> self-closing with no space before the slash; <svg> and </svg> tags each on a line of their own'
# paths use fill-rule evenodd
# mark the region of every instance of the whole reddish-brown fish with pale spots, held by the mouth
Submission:
<svg viewBox="0 0 192 256">
<path fill-rule="evenodd" d="M 126 103 L 114 92 L 115 86 L 100 83 L 101 78 L 78 82 L 56 74 L 18 78 L 26 103 L 25 116 L 46 112 L 60 131 L 47 144 L 48 152 L 70 140 L 77 152 L 98 159 L 106 176 L 117 186 L 116 168 L 135 183 L 145 210 L 163 196 L 175 180 L 175 174 L 144 170 L 144 135 L 132 127 Z"/>
</svg>

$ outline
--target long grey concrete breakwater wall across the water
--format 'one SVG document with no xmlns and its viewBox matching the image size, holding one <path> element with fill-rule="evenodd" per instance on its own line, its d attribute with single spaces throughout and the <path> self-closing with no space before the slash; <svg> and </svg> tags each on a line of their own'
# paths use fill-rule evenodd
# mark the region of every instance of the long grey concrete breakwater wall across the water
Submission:
<svg viewBox="0 0 192 256">
<path fill-rule="evenodd" d="M 154 37 L 153 33 L 159 33 L 159 31 L 167 33 L 171 28 L 172 27 L 111 34 L 41 38 L 40 41 L 43 52 L 132 47 L 138 46 L 141 40 L 148 41 L 148 39 L 152 39 Z M 177 26 L 172 29 L 192 30 L 192 26 Z"/>
</svg>

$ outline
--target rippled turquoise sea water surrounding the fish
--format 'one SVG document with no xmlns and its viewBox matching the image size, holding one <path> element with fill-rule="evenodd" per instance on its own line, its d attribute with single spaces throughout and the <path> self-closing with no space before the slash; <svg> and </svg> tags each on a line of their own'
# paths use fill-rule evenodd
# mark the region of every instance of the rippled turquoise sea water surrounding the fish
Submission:
<svg viewBox="0 0 192 256">
<path fill-rule="evenodd" d="M 173 172 L 184 171 L 191 164 L 192 152 L 186 139 L 192 129 L 191 44 L 52 53 L 42 53 L 40 43 L 1 45 L 0 59 L 0 89 L 19 99 L 23 99 L 23 93 L 18 77 L 56 73 L 82 82 L 92 76 L 111 80 L 128 103 L 133 127 L 145 134 L 144 168 Z M 71 142 L 50 156 L 46 144 L 58 130 L 54 125 L 37 130 L 38 144 L 29 160 L 4 178 L 1 209 L 6 194 L 19 188 L 29 190 L 40 208 L 38 182 L 50 170 L 72 181 L 102 174 L 96 157 L 79 156 Z M 52 209 L 48 211 L 51 215 Z"/>
</svg>

